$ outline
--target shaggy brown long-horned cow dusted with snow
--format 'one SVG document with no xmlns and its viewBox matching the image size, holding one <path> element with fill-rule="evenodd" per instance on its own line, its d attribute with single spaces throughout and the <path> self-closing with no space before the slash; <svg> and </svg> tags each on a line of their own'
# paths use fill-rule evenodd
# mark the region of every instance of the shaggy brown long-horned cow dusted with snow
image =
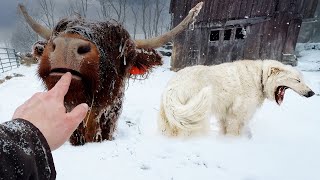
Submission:
<svg viewBox="0 0 320 180">
<path fill-rule="evenodd" d="M 195 21 L 199 3 L 168 33 L 147 40 L 132 40 L 117 22 L 92 22 L 81 17 L 62 19 L 53 30 L 35 22 L 24 6 L 19 8 L 28 24 L 46 42 L 36 43 L 33 52 L 40 60 L 38 73 L 47 89 L 71 72 L 73 79 L 65 96 L 67 111 L 79 103 L 90 110 L 70 138 L 73 145 L 112 140 L 122 109 L 126 80 L 146 74 L 162 64 L 154 50 Z"/>
</svg>

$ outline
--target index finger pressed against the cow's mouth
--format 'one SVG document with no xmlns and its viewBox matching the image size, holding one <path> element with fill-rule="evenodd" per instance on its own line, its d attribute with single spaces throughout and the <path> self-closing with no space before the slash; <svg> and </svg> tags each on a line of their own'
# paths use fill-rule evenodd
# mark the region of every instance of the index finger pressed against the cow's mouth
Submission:
<svg viewBox="0 0 320 180">
<path fill-rule="evenodd" d="M 60 80 L 49 92 L 53 93 L 58 98 L 61 97 L 63 99 L 69 90 L 71 79 L 72 79 L 71 73 L 67 72 L 66 74 L 61 76 Z"/>
</svg>

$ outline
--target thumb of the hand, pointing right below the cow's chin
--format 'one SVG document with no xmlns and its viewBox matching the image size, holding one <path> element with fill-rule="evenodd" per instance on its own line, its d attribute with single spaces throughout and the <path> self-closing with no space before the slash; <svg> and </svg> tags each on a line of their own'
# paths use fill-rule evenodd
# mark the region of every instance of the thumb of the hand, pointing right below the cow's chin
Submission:
<svg viewBox="0 0 320 180">
<path fill-rule="evenodd" d="M 67 119 L 71 123 L 71 127 L 69 127 L 70 129 L 75 130 L 78 127 L 81 121 L 86 117 L 88 109 L 88 105 L 83 103 L 79 104 L 71 112 L 67 113 Z"/>
</svg>

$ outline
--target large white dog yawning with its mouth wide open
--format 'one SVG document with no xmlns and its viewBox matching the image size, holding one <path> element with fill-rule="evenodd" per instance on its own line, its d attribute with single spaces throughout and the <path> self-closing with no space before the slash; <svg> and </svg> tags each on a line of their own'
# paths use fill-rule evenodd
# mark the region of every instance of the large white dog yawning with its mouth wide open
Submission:
<svg viewBox="0 0 320 180">
<path fill-rule="evenodd" d="M 314 92 L 292 66 L 274 60 L 243 60 L 180 70 L 165 88 L 158 125 L 168 136 L 206 132 L 213 114 L 224 134 L 240 135 L 265 99 L 282 103 L 285 90 Z"/>
</svg>

